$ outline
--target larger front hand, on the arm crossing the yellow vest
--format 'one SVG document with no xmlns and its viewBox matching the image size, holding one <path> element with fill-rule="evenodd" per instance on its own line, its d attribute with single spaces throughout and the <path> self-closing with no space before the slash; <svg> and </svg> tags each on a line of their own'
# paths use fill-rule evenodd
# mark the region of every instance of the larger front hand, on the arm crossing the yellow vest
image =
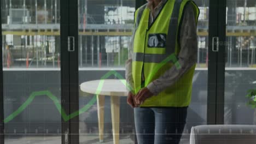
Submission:
<svg viewBox="0 0 256 144">
<path fill-rule="evenodd" d="M 142 104 L 146 99 L 152 97 L 154 94 L 149 91 L 147 87 L 144 87 L 135 95 L 135 102 L 137 105 Z"/>
</svg>

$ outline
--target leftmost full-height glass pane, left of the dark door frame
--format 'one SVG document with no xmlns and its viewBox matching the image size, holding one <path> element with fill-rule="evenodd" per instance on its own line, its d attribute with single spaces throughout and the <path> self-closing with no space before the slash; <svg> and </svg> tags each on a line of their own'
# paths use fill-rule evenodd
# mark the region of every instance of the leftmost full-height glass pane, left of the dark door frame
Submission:
<svg viewBox="0 0 256 144">
<path fill-rule="evenodd" d="M 61 143 L 60 0 L 1 3 L 4 141 Z"/>
</svg>

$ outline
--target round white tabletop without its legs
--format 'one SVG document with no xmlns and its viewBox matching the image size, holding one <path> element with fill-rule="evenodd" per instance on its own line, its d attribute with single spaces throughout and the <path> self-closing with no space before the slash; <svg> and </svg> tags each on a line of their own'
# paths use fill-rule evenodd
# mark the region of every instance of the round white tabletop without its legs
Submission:
<svg viewBox="0 0 256 144">
<path fill-rule="evenodd" d="M 126 85 L 124 79 L 105 79 L 83 82 L 80 89 L 91 94 L 125 97 L 128 95 Z"/>
</svg>

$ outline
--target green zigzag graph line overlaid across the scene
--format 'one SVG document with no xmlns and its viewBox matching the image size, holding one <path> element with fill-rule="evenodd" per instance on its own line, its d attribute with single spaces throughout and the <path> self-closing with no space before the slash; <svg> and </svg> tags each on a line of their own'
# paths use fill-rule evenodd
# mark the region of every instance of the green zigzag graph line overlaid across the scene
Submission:
<svg viewBox="0 0 256 144">
<path fill-rule="evenodd" d="M 176 56 L 174 54 L 170 55 L 169 57 L 167 57 L 166 59 L 164 59 L 164 61 L 162 61 L 161 63 L 159 63 L 156 68 L 153 71 L 153 75 L 156 74 L 156 72 L 167 62 L 172 61 L 177 69 L 180 69 L 181 66 L 179 65 Z M 107 74 L 103 75 L 101 77 L 101 80 L 96 92 L 100 92 L 104 83 L 104 79 L 107 79 L 108 77 L 110 77 L 111 75 L 114 75 L 116 77 L 118 77 L 118 79 L 124 79 L 123 76 L 121 76 L 119 73 L 117 73 L 117 71 L 109 71 Z M 124 83 L 124 85 L 126 87 L 129 87 L 129 89 L 133 89 L 129 83 L 126 83 L 126 81 L 121 81 L 122 83 Z M 39 95 L 46 95 L 48 96 L 51 100 L 53 100 L 57 110 L 61 113 L 61 117 L 64 119 L 65 122 L 69 121 L 69 119 L 74 118 L 86 111 L 88 111 L 90 109 L 90 107 L 92 105 L 94 105 L 97 101 L 97 97 L 96 95 L 94 95 L 94 97 L 89 101 L 88 104 L 86 104 L 84 107 L 82 107 L 81 109 L 79 109 L 78 111 L 75 111 L 73 113 L 71 113 L 70 115 L 67 115 L 65 110 L 62 109 L 61 104 L 59 102 L 59 100 L 57 99 L 57 97 L 55 95 L 53 95 L 53 93 L 49 92 L 49 91 L 39 91 L 39 92 L 33 92 L 30 97 L 28 97 L 28 99 L 25 101 L 25 103 L 23 103 L 18 110 L 14 111 L 13 113 L 11 113 L 11 115 L 9 115 L 7 118 L 4 119 L 4 123 L 8 123 L 10 122 L 12 119 L 14 119 L 16 116 L 18 116 L 22 111 L 24 111 L 26 109 L 26 107 L 28 105 L 30 105 L 32 103 L 32 101 L 34 100 L 34 98 L 36 98 Z"/>
</svg>

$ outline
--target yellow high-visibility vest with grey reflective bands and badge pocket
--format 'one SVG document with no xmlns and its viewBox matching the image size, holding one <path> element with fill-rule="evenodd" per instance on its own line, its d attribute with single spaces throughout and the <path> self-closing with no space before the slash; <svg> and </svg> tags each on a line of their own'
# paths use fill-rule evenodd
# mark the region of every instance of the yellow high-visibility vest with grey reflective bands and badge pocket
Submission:
<svg viewBox="0 0 256 144">
<path fill-rule="evenodd" d="M 177 56 L 180 51 L 178 31 L 181 26 L 183 9 L 191 3 L 194 8 L 195 21 L 199 8 L 189 0 L 167 0 L 154 22 L 149 25 L 150 10 L 143 5 L 135 12 L 133 28 L 132 76 L 134 91 L 138 93 L 150 82 L 158 79 L 171 67 L 179 69 Z M 185 41 L 184 41 L 185 43 Z M 184 107 L 191 101 L 192 79 L 196 64 L 182 77 L 158 95 L 148 98 L 141 107 Z M 144 83 L 142 83 L 142 73 Z"/>
</svg>

